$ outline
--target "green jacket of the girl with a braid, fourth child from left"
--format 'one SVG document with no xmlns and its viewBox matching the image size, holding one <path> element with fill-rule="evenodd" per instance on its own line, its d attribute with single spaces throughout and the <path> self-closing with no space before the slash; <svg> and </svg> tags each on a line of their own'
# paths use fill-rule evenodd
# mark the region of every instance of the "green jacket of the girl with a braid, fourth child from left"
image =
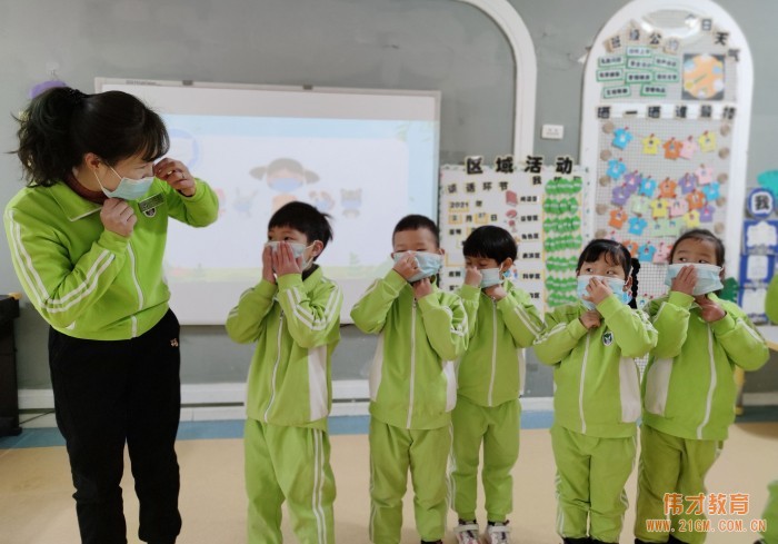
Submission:
<svg viewBox="0 0 778 544">
<path fill-rule="evenodd" d="M 648 316 L 611 295 L 599 305 L 602 324 L 587 330 L 578 319 L 582 303 L 546 314 L 546 333 L 535 342 L 535 354 L 553 365 L 555 422 L 600 438 L 636 434 L 640 416 L 639 372 L 642 357 L 657 343 Z"/>
</svg>

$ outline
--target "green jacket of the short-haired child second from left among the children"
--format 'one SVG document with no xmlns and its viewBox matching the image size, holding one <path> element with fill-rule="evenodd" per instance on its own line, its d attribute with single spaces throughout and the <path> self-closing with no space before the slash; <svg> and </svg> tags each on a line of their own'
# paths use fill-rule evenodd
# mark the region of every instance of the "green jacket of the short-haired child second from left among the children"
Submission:
<svg viewBox="0 0 778 544">
<path fill-rule="evenodd" d="M 370 414 L 400 428 L 449 425 L 457 400 L 455 360 L 467 348 L 467 314 L 456 294 L 420 300 L 395 270 L 375 281 L 351 310 L 360 330 L 378 334 L 370 369 Z"/>
</svg>

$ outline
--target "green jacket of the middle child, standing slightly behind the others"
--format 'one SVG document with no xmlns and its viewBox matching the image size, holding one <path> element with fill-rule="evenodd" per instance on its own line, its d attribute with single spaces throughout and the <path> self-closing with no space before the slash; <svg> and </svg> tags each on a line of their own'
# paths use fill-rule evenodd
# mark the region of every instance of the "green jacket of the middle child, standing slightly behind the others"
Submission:
<svg viewBox="0 0 778 544">
<path fill-rule="evenodd" d="M 458 394 L 479 406 L 499 406 L 518 398 L 521 348 L 531 346 L 543 329 L 529 295 L 510 281 L 503 287 L 508 296 L 499 301 L 478 287 L 463 285 L 459 289 L 470 338 L 457 373 Z"/>
</svg>

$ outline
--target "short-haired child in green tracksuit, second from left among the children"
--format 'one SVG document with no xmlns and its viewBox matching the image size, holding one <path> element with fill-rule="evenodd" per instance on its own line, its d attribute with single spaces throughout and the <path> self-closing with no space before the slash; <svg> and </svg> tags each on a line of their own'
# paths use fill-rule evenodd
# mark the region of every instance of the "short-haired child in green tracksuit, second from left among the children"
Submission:
<svg viewBox="0 0 778 544">
<path fill-rule="evenodd" d="M 457 399 L 453 362 L 467 347 L 467 315 L 436 286 L 442 261 L 438 227 L 410 215 L 395 227 L 395 267 L 351 310 L 378 334 L 370 370 L 370 540 L 398 544 L 408 469 L 421 542 L 446 532 L 446 462 Z"/>
</svg>

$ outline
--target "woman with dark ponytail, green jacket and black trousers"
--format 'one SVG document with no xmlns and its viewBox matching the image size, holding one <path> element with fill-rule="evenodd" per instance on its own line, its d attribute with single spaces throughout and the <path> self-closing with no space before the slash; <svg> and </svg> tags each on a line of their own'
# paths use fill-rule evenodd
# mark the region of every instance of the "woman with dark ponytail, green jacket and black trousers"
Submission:
<svg viewBox="0 0 778 544">
<path fill-rule="evenodd" d="M 216 194 L 162 157 L 161 118 L 131 95 L 67 87 L 19 119 L 27 187 L 3 217 L 13 266 L 49 323 L 57 425 L 64 436 L 83 543 L 126 543 L 120 482 L 127 444 L 142 541 L 176 542 L 179 324 L 162 256 L 168 218 L 213 222 Z M 157 161 L 157 162 L 154 162 Z"/>
</svg>

